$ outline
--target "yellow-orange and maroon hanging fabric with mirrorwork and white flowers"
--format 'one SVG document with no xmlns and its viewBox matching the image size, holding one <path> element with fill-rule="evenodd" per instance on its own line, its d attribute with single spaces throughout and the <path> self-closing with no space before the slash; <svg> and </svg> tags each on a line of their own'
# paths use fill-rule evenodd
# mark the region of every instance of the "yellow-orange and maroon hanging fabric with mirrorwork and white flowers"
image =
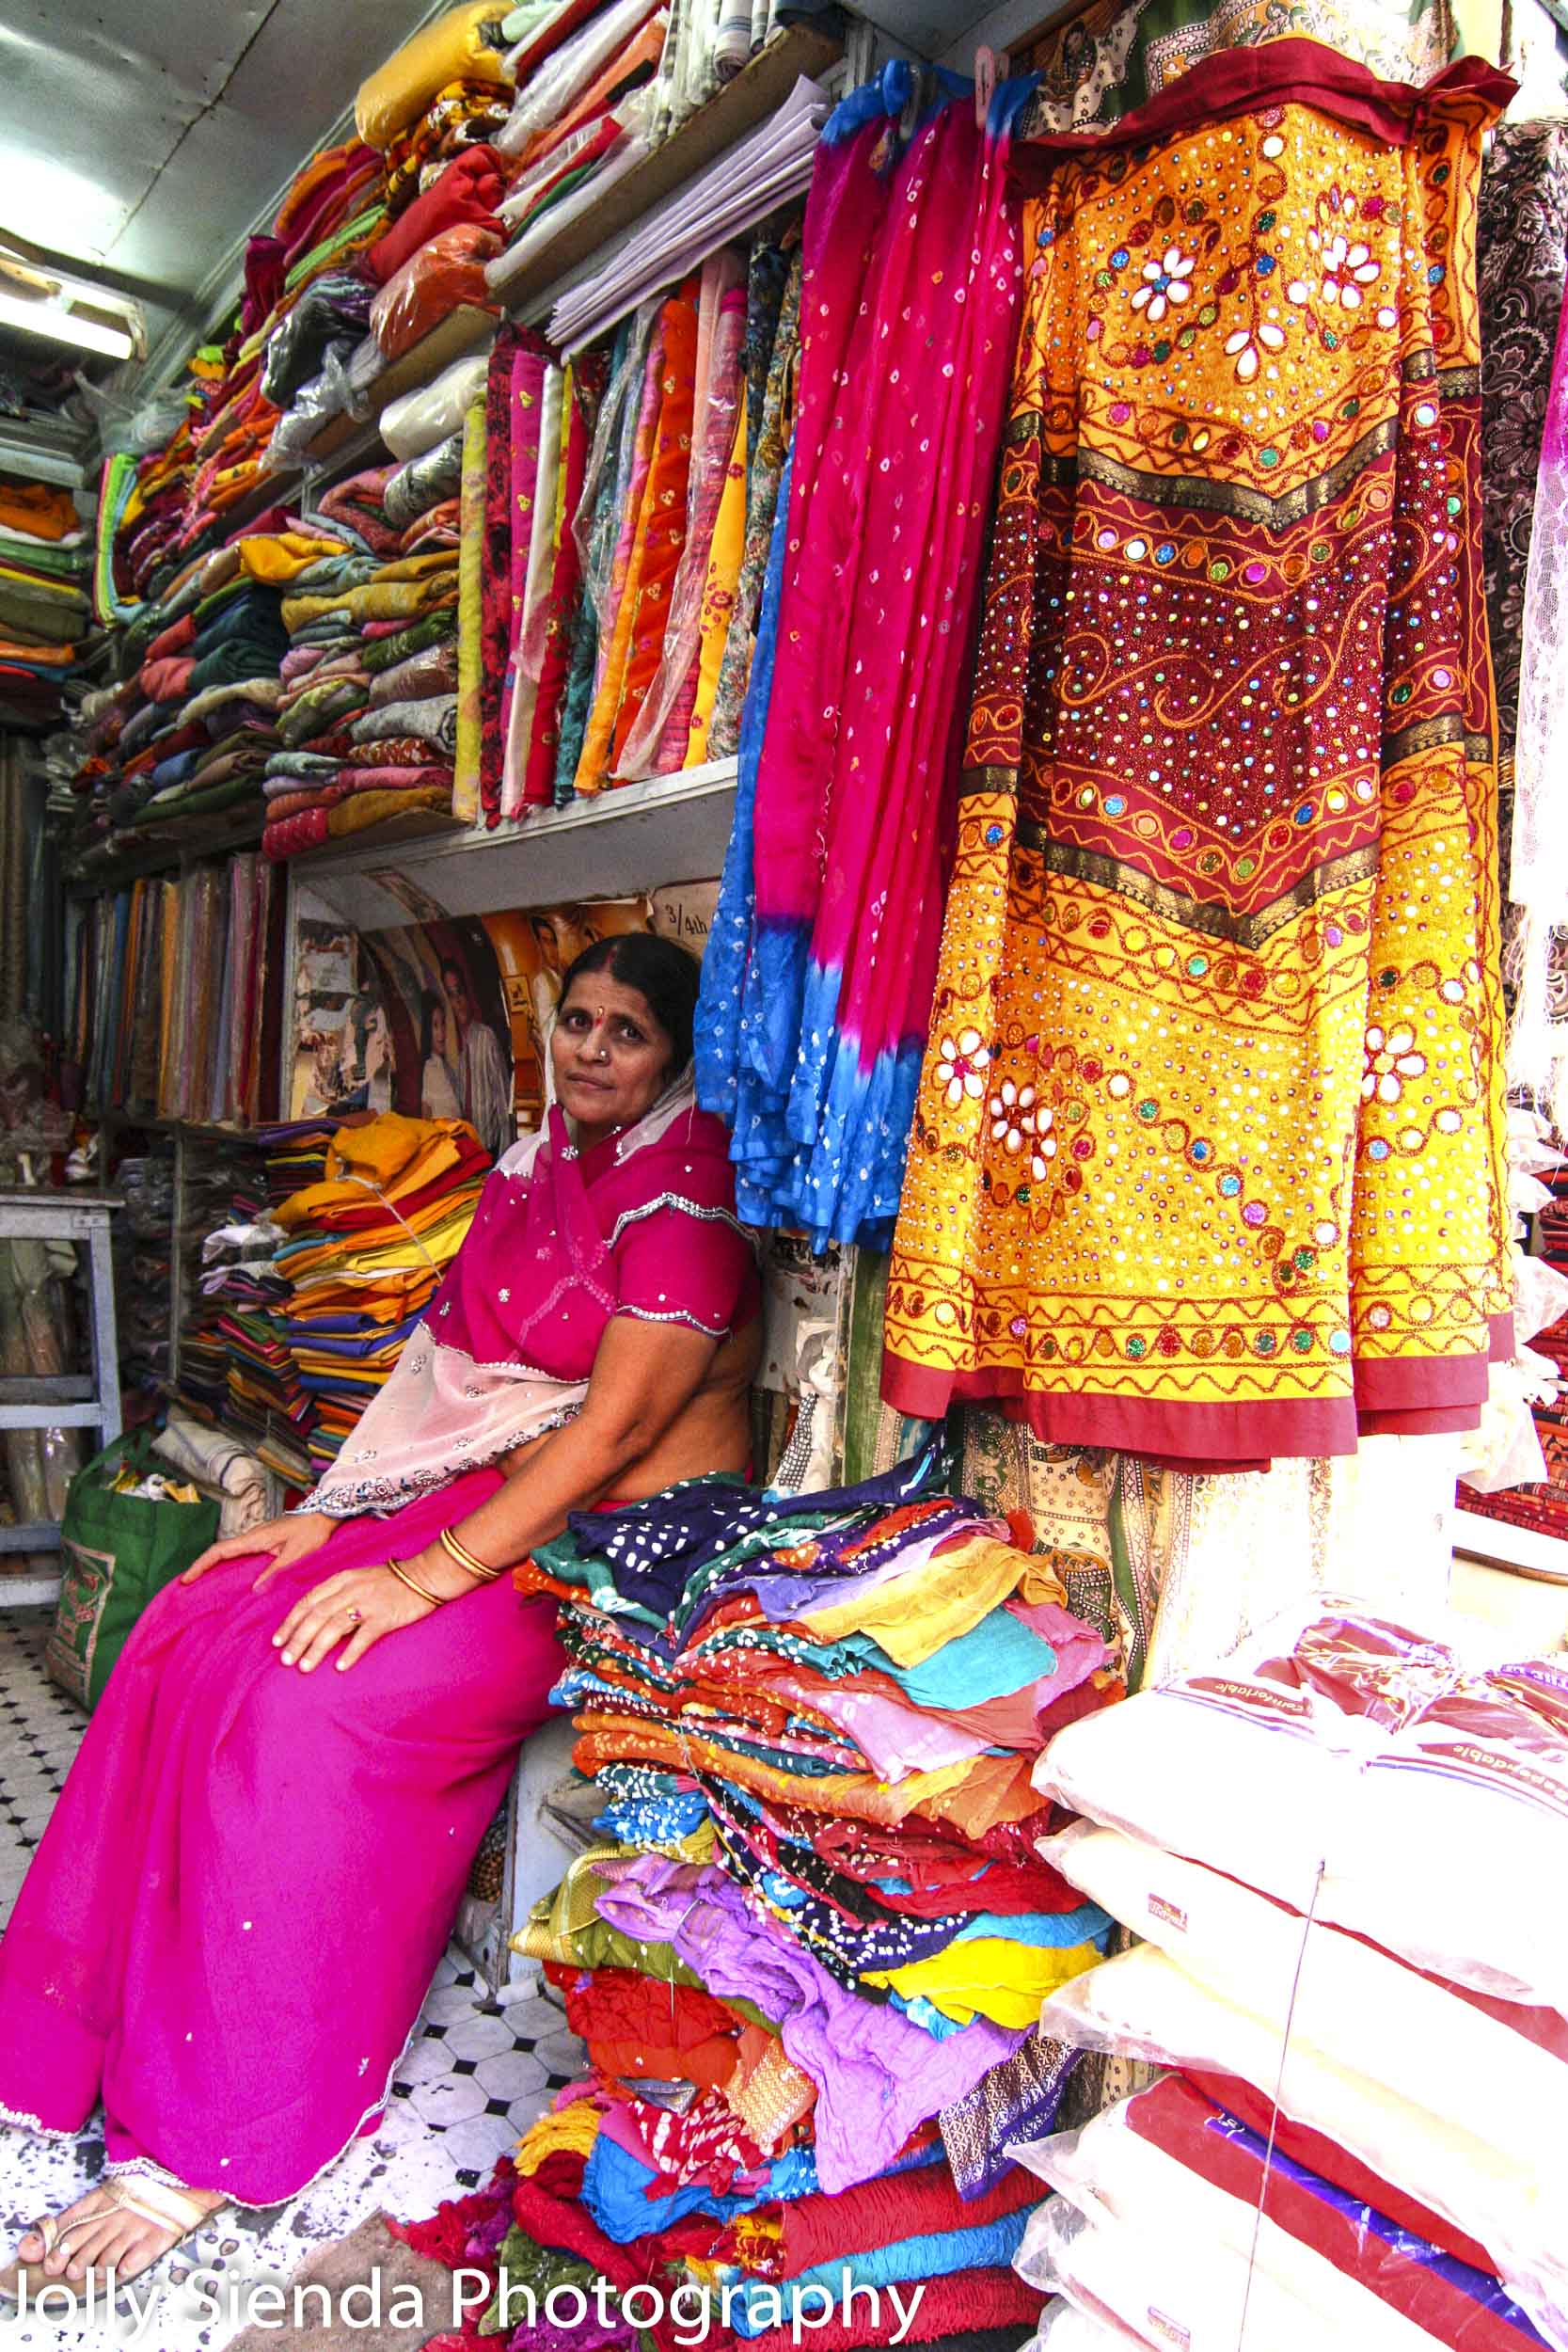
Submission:
<svg viewBox="0 0 1568 2352">
<path fill-rule="evenodd" d="M 1020 151 L 900 1411 L 1190 1465 L 1474 1425 L 1509 1303 L 1474 303 L 1505 92 L 1284 40 Z"/>
</svg>

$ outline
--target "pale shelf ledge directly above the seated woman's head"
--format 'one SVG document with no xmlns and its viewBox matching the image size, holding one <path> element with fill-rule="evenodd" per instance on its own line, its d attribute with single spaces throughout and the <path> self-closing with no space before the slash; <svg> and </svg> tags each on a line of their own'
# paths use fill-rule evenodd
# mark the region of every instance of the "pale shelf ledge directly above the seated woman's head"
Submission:
<svg viewBox="0 0 1568 2352">
<path fill-rule="evenodd" d="M 564 898 L 625 898 L 665 882 L 708 882 L 724 870 L 736 811 L 736 762 L 623 783 L 569 809 L 541 809 L 494 833 L 470 828 L 447 840 L 320 849 L 292 861 L 299 889 L 355 931 L 414 922 L 400 882 L 444 915 L 557 906 Z M 390 884 L 390 887 L 388 887 Z"/>
</svg>

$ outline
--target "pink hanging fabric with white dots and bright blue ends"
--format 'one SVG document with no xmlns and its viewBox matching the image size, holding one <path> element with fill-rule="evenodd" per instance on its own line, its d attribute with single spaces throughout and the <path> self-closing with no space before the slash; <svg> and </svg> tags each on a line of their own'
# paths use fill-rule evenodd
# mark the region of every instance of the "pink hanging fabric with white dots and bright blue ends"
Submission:
<svg viewBox="0 0 1568 2352">
<path fill-rule="evenodd" d="M 818 1244 L 884 1242 L 898 1204 L 1018 315 L 1004 158 L 1030 87 L 1006 85 L 980 132 L 971 87 L 943 75 L 903 141 L 914 80 L 889 68 L 827 122 L 806 205 L 788 663 L 757 764 L 748 962 L 705 969 L 698 1068 L 703 1098 L 729 1101 L 719 1040 L 738 1044 L 743 1214 Z"/>
</svg>

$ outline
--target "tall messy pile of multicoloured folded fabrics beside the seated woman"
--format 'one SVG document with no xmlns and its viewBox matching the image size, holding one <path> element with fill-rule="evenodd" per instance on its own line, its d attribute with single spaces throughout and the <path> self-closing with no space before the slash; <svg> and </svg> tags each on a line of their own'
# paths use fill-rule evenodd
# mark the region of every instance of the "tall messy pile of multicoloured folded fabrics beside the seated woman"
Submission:
<svg viewBox="0 0 1568 2352">
<path fill-rule="evenodd" d="M 842 2347 L 1016 2345 L 1037 2317 L 1009 2263 L 1039 2192 L 1006 2147 L 1056 2117 L 1034 2020 L 1110 1919 L 1034 1853 L 1030 1769 L 1119 1684 L 943 1470 L 698 1479 L 576 1515 L 520 1573 L 562 1604 L 602 1844 L 520 1936 L 590 2072 L 496 2183 L 512 2279 L 682 2284 L 710 2345 L 797 2312 L 816 2336 L 825 2305 Z"/>
</svg>

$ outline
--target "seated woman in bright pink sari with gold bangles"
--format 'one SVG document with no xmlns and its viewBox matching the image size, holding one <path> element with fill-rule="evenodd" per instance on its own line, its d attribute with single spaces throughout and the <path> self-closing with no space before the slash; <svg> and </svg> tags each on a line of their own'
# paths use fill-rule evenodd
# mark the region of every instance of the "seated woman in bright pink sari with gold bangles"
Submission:
<svg viewBox="0 0 1568 2352">
<path fill-rule="evenodd" d="M 555 1105 L 299 1512 L 146 1611 L 0 1943 L 0 2117 L 101 2185 L 0 2291 L 132 2279 L 376 2126 L 562 1663 L 505 1573 L 607 1496 L 743 1470 L 759 1287 L 691 1094 L 696 964 L 588 948 Z"/>
</svg>

